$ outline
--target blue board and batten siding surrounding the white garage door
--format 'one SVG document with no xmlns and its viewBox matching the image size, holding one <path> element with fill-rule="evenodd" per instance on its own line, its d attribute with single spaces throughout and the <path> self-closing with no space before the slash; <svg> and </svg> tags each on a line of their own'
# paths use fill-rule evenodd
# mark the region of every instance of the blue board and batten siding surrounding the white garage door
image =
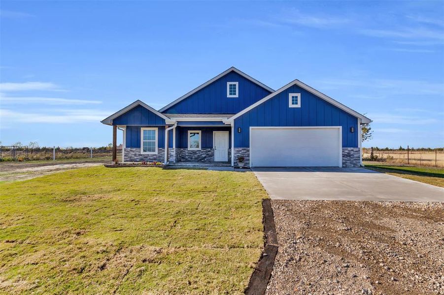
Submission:
<svg viewBox="0 0 444 295">
<path fill-rule="evenodd" d="M 300 108 L 288 106 L 289 93 L 301 93 Z M 358 147 L 358 119 L 296 85 L 235 119 L 235 148 L 249 148 L 250 126 L 342 126 L 342 148 Z"/>
</svg>

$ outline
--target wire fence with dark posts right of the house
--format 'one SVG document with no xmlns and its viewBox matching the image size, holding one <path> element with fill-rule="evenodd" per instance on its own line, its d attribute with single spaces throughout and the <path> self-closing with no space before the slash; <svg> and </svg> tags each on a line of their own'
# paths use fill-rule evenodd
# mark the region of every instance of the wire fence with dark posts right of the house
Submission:
<svg viewBox="0 0 444 295">
<path fill-rule="evenodd" d="M 362 159 L 404 165 L 444 167 L 444 148 L 363 148 Z"/>
</svg>

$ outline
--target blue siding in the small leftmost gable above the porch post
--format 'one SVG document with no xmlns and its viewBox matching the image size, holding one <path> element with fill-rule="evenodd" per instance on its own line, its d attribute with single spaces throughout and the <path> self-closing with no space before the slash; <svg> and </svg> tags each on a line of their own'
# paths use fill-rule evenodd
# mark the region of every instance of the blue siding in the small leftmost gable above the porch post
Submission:
<svg viewBox="0 0 444 295">
<path fill-rule="evenodd" d="M 138 105 L 112 120 L 113 125 L 165 125 L 165 119 Z"/>
</svg>

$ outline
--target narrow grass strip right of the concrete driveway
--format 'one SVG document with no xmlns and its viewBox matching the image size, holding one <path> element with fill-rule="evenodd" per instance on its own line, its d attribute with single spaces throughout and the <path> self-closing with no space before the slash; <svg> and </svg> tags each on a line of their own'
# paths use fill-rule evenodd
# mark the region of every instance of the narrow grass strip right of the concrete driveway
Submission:
<svg viewBox="0 0 444 295">
<path fill-rule="evenodd" d="M 444 168 L 366 164 L 365 168 L 444 187 Z"/>
</svg>

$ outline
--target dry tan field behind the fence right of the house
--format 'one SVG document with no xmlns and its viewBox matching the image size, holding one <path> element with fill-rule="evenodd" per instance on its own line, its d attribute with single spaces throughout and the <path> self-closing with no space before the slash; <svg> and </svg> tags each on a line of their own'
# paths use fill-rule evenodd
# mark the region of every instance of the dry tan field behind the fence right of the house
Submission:
<svg viewBox="0 0 444 295">
<path fill-rule="evenodd" d="M 407 164 L 407 150 L 374 150 L 373 154 L 378 159 L 394 164 Z M 370 158 L 370 148 L 363 149 L 363 159 Z M 409 163 L 415 166 L 435 167 L 435 151 L 410 151 Z M 444 152 L 438 150 L 436 154 L 436 167 L 444 167 Z"/>
</svg>

